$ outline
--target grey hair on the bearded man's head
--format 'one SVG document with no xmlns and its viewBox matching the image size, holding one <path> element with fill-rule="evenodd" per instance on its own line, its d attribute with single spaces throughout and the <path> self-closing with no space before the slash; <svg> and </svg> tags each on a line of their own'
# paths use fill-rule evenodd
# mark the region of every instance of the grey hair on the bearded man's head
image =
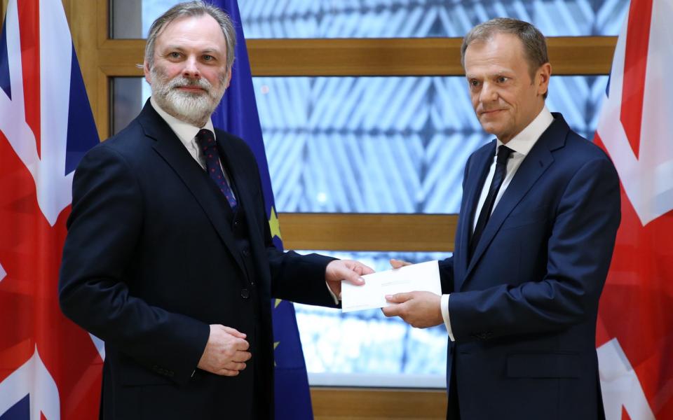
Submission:
<svg viewBox="0 0 673 420">
<path fill-rule="evenodd" d="M 161 31 L 173 22 L 176 19 L 184 18 L 185 16 L 190 16 L 193 18 L 198 18 L 203 15 L 210 15 L 217 22 L 220 28 L 222 28 L 222 34 L 224 34 L 224 41 L 226 43 L 226 69 L 231 69 L 231 64 L 233 64 L 233 52 L 236 48 L 236 31 L 233 29 L 233 23 L 229 18 L 229 15 L 224 13 L 224 11 L 217 6 L 213 6 L 209 3 L 204 3 L 203 1 L 185 1 L 184 3 L 178 3 L 172 8 L 166 10 L 166 12 L 159 16 L 149 28 L 149 34 L 147 35 L 147 44 L 145 45 L 145 61 L 149 64 L 151 69 L 154 66 L 154 44 L 156 43 L 156 38 L 161 34 Z"/>
</svg>

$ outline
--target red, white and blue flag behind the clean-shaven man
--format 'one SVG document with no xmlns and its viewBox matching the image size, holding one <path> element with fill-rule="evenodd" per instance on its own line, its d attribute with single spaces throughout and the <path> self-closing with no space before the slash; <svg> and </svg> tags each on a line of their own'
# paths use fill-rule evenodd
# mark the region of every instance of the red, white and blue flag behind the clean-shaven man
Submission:
<svg viewBox="0 0 673 420">
<path fill-rule="evenodd" d="M 608 420 L 673 419 L 671 22 L 671 0 L 632 0 L 596 133 L 622 184 L 597 330 Z"/>
</svg>

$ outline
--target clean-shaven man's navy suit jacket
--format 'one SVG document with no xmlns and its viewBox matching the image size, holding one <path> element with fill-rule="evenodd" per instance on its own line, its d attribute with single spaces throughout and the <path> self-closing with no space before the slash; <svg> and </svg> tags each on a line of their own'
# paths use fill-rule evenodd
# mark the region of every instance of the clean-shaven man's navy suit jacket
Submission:
<svg viewBox="0 0 673 420">
<path fill-rule="evenodd" d="M 456 339 L 447 378 L 455 369 L 462 419 L 604 416 L 596 318 L 620 221 L 619 181 L 603 151 L 554 117 L 470 261 L 496 141 L 465 167 L 455 253 L 440 264 Z"/>
</svg>

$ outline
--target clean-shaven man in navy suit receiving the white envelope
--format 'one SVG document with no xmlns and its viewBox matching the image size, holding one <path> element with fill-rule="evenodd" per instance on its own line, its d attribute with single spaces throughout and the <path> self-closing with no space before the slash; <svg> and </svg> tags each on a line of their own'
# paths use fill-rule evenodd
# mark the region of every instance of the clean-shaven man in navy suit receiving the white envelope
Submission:
<svg viewBox="0 0 673 420">
<path fill-rule="evenodd" d="M 397 304 L 383 311 L 446 325 L 449 419 L 604 418 L 594 337 L 620 221 L 616 170 L 545 107 L 551 65 L 538 29 L 485 22 L 465 36 L 462 60 L 496 139 L 465 165 L 444 294 L 390 296 Z"/>
</svg>

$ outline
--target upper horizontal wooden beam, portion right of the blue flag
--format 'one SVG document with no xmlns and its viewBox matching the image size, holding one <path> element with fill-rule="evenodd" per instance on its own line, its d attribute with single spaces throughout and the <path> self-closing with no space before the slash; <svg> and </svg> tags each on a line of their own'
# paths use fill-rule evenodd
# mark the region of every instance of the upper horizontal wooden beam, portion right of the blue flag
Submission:
<svg viewBox="0 0 673 420">
<path fill-rule="evenodd" d="M 255 76 L 462 76 L 461 38 L 250 39 Z M 606 74 L 614 36 L 548 38 L 554 74 Z"/>
</svg>

